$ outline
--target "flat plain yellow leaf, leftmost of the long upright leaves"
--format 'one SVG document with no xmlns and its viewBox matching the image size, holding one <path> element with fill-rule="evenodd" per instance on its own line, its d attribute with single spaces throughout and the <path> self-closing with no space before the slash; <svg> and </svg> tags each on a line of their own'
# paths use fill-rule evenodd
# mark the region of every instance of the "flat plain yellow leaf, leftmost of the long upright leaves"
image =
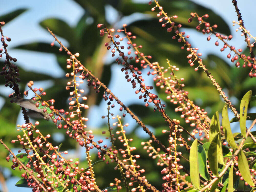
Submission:
<svg viewBox="0 0 256 192">
<path fill-rule="evenodd" d="M 199 165 L 197 153 L 197 139 L 192 143 L 189 154 L 190 179 L 195 188 L 199 189 Z"/>
</svg>

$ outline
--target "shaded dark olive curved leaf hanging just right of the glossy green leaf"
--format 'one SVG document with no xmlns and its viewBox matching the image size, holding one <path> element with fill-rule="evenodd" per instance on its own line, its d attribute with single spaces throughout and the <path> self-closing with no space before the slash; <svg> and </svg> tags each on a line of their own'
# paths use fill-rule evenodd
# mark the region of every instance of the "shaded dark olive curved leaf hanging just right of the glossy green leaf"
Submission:
<svg viewBox="0 0 256 192">
<path fill-rule="evenodd" d="M 210 143 L 209 150 L 208 150 L 208 161 L 209 166 L 214 175 L 217 177 L 219 176 L 218 173 L 218 160 L 217 160 L 217 146 L 218 146 L 218 137 L 219 134 L 215 135 L 213 140 Z M 191 153 L 191 151 L 190 151 Z"/>
</svg>

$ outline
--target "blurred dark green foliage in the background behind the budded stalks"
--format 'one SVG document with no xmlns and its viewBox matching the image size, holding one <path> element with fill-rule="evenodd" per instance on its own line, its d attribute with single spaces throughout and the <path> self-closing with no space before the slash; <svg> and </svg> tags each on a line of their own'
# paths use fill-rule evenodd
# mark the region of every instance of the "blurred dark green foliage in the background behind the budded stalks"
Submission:
<svg viewBox="0 0 256 192">
<path fill-rule="evenodd" d="M 137 36 L 134 42 L 137 45 L 143 45 L 142 51 L 146 55 L 152 56 L 152 61 L 158 61 L 161 66 L 167 66 L 166 58 L 171 61 L 172 65 L 176 65 L 180 68 L 176 72 L 178 78 L 185 78 L 185 90 L 189 91 L 189 98 L 195 101 L 196 104 L 200 104 L 202 108 L 208 107 L 211 109 L 209 116 L 217 111 L 221 110 L 224 103 L 220 99 L 218 92 L 214 89 L 211 84 L 211 81 L 202 71 L 194 71 L 194 68 L 191 68 L 187 62 L 187 52 L 181 50 L 182 46 L 177 40 L 172 40 L 173 33 L 167 33 L 165 29 L 161 27 L 161 24 L 156 18 L 156 12 L 151 12 L 151 6 L 143 3 L 134 3 L 131 0 L 123 1 L 88 1 L 88 0 L 75 0 L 83 9 L 84 14 L 79 19 L 76 26 L 71 27 L 66 21 L 58 18 L 46 18 L 40 22 L 42 30 L 46 30 L 46 27 L 49 27 L 58 37 L 62 37 L 67 40 L 69 46 L 68 49 L 72 53 L 80 53 L 80 61 L 84 64 L 85 67 L 89 68 L 92 73 L 98 77 L 106 86 L 109 85 L 111 78 L 111 66 L 116 65 L 116 63 L 111 63 L 110 65 L 104 65 L 103 57 L 107 52 L 104 43 L 107 41 L 106 36 L 99 36 L 99 29 L 97 29 L 97 24 L 104 23 L 108 24 L 105 20 L 105 7 L 106 5 L 111 5 L 114 9 L 118 11 L 118 20 L 124 18 L 125 16 L 130 16 L 133 13 L 143 13 L 148 14 L 149 17 L 141 16 L 136 18 L 135 22 L 128 24 L 127 29 L 132 32 L 133 35 Z M 164 7 L 165 11 L 169 15 L 178 15 L 178 18 L 175 22 L 182 24 L 183 27 L 193 28 L 197 25 L 195 21 L 188 23 L 187 19 L 190 17 L 190 12 L 196 12 L 198 15 L 209 14 L 207 21 L 210 24 L 217 24 L 219 27 L 217 31 L 223 34 L 230 34 L 230 29 L 225 21 L 212 10 L 202 7 L 196 3 L 193 3 L 188 0 L 175 0 L 175 1 L 161 1 L 161 5 Z M 6 23 L 14 19 L 18 15 L 22 14 L 26 9 L 19 9 L 7 15 L 0 16 L 0 20 L 5 21 Z M 8 24 L 7 24 L 8 25 Z M 186 31 L 186 30 L 185 30 Z M 5 31 L 6 35 L 8 31 Z M 206 38 L 206 37 L 205 37 Z M 212 42 L 209 42 L 212 43 Z M 30 42 L 28 44 L 20 45 L 16 49 L 22 49 L 27 51 L 38 51 L 44 53 L 54 53 L 56 55 L 57 62 L 59 66 L 67 72 L 66 68 L 66 59 L 67 55 L 65 51 L 59 52 L 58 45 L 53 48 L 50 47 L 49 42 Z M 205 45 L 208 46 L 208 45 Z M 193 45 L 192 45 L 193 47 Z M 203 49 L 203 47 L 199 48 Z M 12 54 L 10 54 L 12 55 Z M 234 64 L 229 65 L 224 60 L 222 60 L 217 55 L 208 55 L 206 59 L 203 60 L 204 64 L 207 66 L 211 74 L 220 84 L 220 86 L 227 90 L 229 97 L 235 96 L 238 100 L 241 100 L 241 97 L 251 89 L 253 93 L 256 91 L 256 87 L 252 79 L 248 78 L 247 69 L 237 69 Z M 17 63 L 19 66 L 19 63 Z M 3 66 L 3 61 L 0 61 L 0 66 Z M 104 75 L 103 75 L 104 72 Z M 41 74 L 39 72 L 28 72 L 19 67 L 20 78 L 22 80 L 19 83 L 20 90 L 23 93 L 25 85 L 30 80 L 42 81 L 42 80 L 51 80 L 53 82 L 52 87 L 46 89 L 47 95 L 44 97 L 47 99 L 55 99 L 56 109 L 68 109 L 67 99 L 69 97 L 68 91 L 65 90 L 66 82 L 68 78 L 55 78 L 49 75 Z M 146 75 L 146 74 L 144 74 Z M 153 78 L 152 78 L 153 79 Z M 153 80 L 152 80 L 153 81 Z M 0 77 L 1 85 L 4 84 L 4 78 Z M 125 85 L 126 86 L 126 85 Z M 129 85 L 130 86 L 130 85 Z M 8 89 L 8 88 L 6 88 Z M 155 88 L 154 91 L 158 92 L 161 100 L 166 101 L 166 113 L 171 118 L 180 119 L 179 113 L 174 112 L 174 106 L 172 103 L 167 101 L 166 94 L 161 91 L 159 88 Z M 114 93 L 118 96 L 118 92 Z M 210 96 L 209 96 L 210 95 Z M 16 125 L 17 116 L 20 111 L 19 106 L 11 104 L 9 98 L 5 97 L 0 93 L 0 96 L 5 99 L 5 103 L 0 110 L 0 135 L 4 142 L 8 143 L 10 147 L 18 147 L 18 144 L 11 144 L 10 141 L 15 139 L 17 132 L 10 132 L 9 129 L 14 130 Z M 102 101 L 102 92 L 96 94 L 93 90 L 88 92 L 88 105 L 99 105 Z M 198 103 L 198 101 L 200 101 Z M 252 106 L 252 105 L 251 105 Z M 116 106 L 118 107 L 118 106 Z M 162 129 L 166 129 L 167 124 L 159 113 L 153 112 L 151 108 L 146 108 L 144 103 L 141 102 L 141 105 L 131 104 L 129 108 L 142 120 L 146 125 L 154 127 L 156 136 L 164 143 L 167 144 L 167 135 L 162 134 Z M 239 109 L 239 107 L 236 107 Z M 86 112 L 84 112 L 86 113 Z M 100 112 L 99 117 L 104 115 L 105 112 Z M 129 115 L 126 116 L 130 118 Z M 22 122 L 20 122 L 22 123 Z M 107 123 L 107 122 L 106 122 Z M 181 121 L 181 125 L 187 129 L 191 129 L 184 121 Z M 51 122 L 40 121 L 40 127 L 44 127 L 42 130 L 43 134 L 52 134 L 56 132 L 65 133 L 64 130 L 55 129 L 55 125 Z M 136 135 L 136 129 L 141 129 L 141 127 L 134 127 L 133 131 L 127 135 L 128 138 L 133 138 L 131 146 L 137 147 L 138 154 L 141 157 L 137 160 L 137 163 L 141 165 L 141 168 L 145 169 L 145 176 L 149 182 L 151 182 L 155 187 L 161 188 L 162 182 L 161 178 L 161 167 L 156 165 L 156 160 L 148 157 L 148 154 L 143 147 L 140 145 L 141 141 L 138 135 Z M 99 127 L 94 132 L 100 133 L 101 130 L 106 130 L 106 124 Z M 187 137 L 184 135 L 184 137 Z M 148 138 L 146 138 L 148 140 Z M 59 145 L 58 142 L 51 140 L 54 145 Z M 123 147 L 120 142 L 116 142 L 117 148 Z M 191 143 L 189 143 L 191 144 Z M 61 150 L 68 150 L 79 148 L 76 141 L 72 140 L 65 136 L 65 142 L 61 147 Z M 78 149 L 77 149 L 78 150 Z M 178 151 L 184 152 L 184 148 L 179 148 Z M 1 147 L 0 150 L 0 165 L 2 167 L 9 167 L 11 163 L 5 161 L 7 156 L 6 150 Z M 188 154 L 184 153 L 184 156 L 188 158 Z M 98 160 L 97 155 L 92 155 L 93 162 Z M 189 165 L 183 160 L 181 163 L 189 168 Z M 86 167 L 86 162 L 80 162 L 80 165 Z M 103 168 L 104 167 L 104 168 Z M 105 163 L 98 164 L 94 167 L 94 172 L 97 178 L 97 184 L 100 188 L 105 188 L 109 186 L 110 182 L 113 182 L 113 178 L 120 178 L 119 172 L 114 171 L 115 164 L 105 165 Z M 150 171 L 154 170 L 154 172 Z M 106 177 L 111 172 L 111 177 Z M 19 176 L 21 173 L 18 170 L 12 171 L 13 175 Z"/>
</svg>

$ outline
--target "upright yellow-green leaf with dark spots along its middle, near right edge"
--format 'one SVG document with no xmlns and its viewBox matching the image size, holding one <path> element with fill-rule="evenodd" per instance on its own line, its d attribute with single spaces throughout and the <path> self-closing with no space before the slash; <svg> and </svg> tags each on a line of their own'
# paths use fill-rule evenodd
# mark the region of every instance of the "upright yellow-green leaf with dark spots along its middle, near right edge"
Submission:
<svg viewBox="0 0 256 192">
<path fill-rule="evenodd" d="M 252 91 L 248 91 L 242 98 L 240 103 L 240 130 L 243 137 L 246 136 L 246 117 L 248 104 L 252 96 Z"/>
</svg>

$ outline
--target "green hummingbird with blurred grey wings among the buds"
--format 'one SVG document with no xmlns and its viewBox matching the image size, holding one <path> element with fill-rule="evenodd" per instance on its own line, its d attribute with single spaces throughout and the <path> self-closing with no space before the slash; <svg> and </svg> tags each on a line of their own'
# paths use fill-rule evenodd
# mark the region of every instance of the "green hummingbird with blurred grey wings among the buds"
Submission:
<svg viewBox="0 0 256 192">
<path fill-rule="evenodd" d="M 31 99 L 15 98 L 12 100 L 21 107 L 29 109 L 27 115 L 31 118 L 44 118 L 45 120 L 54 120 L 54 112 L 48 107 L 43 106 L 42 101 L 38 97 Z"/>
</svg>

